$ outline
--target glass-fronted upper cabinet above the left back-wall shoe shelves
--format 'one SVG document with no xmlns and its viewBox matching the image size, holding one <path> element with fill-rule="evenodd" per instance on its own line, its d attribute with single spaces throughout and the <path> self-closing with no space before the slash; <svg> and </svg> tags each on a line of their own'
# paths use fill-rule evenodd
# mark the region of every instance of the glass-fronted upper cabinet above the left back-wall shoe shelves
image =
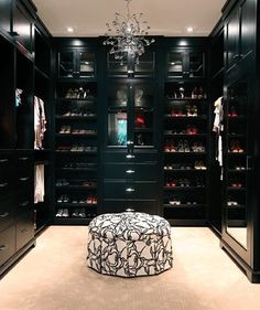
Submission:
<svg viewBox="0 0 260 310">
<path fill-rule="evenodd" d="M 94 78 L 96 76 L 95 53 L 86 49 L 63 49 L 58 52 L 59 78 Z"/>
</svg>

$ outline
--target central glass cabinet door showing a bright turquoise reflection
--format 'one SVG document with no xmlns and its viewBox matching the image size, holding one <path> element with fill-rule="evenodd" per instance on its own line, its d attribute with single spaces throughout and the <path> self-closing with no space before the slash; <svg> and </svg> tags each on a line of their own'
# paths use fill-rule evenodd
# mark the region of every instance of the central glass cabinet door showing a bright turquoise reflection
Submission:
<svg viewBox="0 0 260 310">
<path fill-rule="evenodd" d="M 128 141 L 127 85 L 111 86 L 108 93 L 108 146 L 126 147 Z"/>
</svg>

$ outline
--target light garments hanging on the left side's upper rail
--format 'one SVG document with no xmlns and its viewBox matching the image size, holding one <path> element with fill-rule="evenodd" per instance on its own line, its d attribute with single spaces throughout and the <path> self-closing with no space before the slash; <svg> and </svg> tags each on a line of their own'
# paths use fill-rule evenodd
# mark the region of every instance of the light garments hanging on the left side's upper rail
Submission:
<svg viewBox="0 0 260 310">
<path fill-rule="evenodd" d="M 46 131 L 46 118 L 44 103 L 34 96 L 34 149 L 42 149 L 44 132 Z"/>
</svg>

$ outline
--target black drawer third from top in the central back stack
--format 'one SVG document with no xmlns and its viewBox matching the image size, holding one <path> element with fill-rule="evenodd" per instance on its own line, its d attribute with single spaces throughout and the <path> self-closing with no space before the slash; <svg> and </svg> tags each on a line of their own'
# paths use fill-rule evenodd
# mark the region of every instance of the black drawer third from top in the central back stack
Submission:
<svg viewBox="0 0 260 310">
<path fill-rule="evenodd" d="M 158 196 L 158 182 L 105 182 L 106 199 L 151 199 Z"/>
</svg>

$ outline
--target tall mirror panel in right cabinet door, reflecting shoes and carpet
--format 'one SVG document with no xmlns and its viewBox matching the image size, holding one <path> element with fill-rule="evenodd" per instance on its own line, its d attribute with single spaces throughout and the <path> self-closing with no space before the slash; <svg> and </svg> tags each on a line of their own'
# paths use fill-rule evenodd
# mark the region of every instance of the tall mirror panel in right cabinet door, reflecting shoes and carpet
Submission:
<svg viewBox="0 0 260 310">
<path fill-rule="evenodd" d="M 248 159 L 250 153 L 248 137 L 248 84 L 239 81 L 228 87 L 226 107 L 226 226 L 241 246 L 247 248 L 247 204 L 248 204 Z"/>
</svg>

